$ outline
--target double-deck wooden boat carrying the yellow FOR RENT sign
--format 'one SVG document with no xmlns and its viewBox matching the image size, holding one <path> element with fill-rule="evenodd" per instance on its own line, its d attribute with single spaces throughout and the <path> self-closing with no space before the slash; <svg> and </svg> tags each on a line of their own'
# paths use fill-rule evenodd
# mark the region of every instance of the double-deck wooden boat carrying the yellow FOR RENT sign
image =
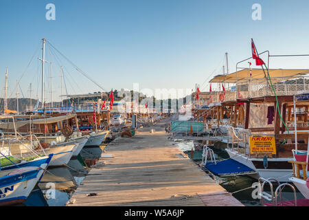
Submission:
<svg viewBox="0 0 309 220">
<path fill-rule="evenodd" d="M 251 77 L 250 74 L 251 72 Z M 293 170 L 288 161 L 293 159 L 292 107 L 293 93 L 308 91 L 306 74 L 309 69 L 269 69 L 275 85 L 275 94 L 262 69 L 242 69 L 233 74 L 219 75 L 211 83 L 233 83 L 234 88 L 225 90 L 225 99 L 219 98 L 222 91 L 212 92 L 213 100 L 220 105 L 208 111 L 218 126 L 226 116 L 227 148 L 231 159 L 252 170 L 251 177 L 271 177 L 280 182 L 289 181 Z M 261 77 L 262 76 L 262 77 Z M 296 85 L 301 82 L 301 87 Z M 299 149 L 304 150 L 308 140 L 308 100 L 297 100 L 302 113 L 295 115 Z M 215 106 L 215 105 L 214 105 Z M 268 124 L 269 109 L 273 108 L 273 120 Z M 220 140 L 221 141 L 221 140 Z M 222 165 L 223 166 L 223 165 Z M 236 167 L 237 168 L 237 167 Z M 238 175 L 237 170 L 234 170 Z M 241 173 L 239 175 L 242 175 Z"/>
</svg>

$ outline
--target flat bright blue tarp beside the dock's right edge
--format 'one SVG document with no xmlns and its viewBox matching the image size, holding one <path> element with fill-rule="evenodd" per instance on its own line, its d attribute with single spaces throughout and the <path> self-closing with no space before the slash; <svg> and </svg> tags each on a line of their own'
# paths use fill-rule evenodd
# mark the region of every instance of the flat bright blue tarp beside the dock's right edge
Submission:
<svg viewBox="0 0 309 220">
<path fill-rule="evenodd" d="M 241 164 L 234 159 L 225 159 L 215 164 L 214 162 L 206 164 L 207 170 L 214 175 L 239 175 L 241 173 L 255 173 L 255 170 L 251 169 L 249 166 Z"/>
</svg>

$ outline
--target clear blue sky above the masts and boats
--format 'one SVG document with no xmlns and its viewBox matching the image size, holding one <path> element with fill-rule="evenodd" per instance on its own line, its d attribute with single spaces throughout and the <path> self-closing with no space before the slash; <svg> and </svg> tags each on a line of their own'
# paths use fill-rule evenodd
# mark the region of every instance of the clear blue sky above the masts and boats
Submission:
<svg viewBox="0 0 309 220">
<path fill-rule="evenodd" d="M 55 21 L 45 19 L 47 3 L 56 5 Z M 253 3 L 262 5 L 262 21 L 251 19 Z M 199 83 L 207 91 L 209 76 L 222 73 L 225 52 L 230 72 L 251 56 L 251 38 L 259 52 L 309 54 L 308 10 L 308 0 L 1 0 L 0 86 L 8 67 L 9 94 L 16 92 L 16 79 L 34 56 L 20 84 L 24 96 L 32 82 L 34 96 L 41 97 L 38 57 L 45 38 L 106 91 L 133 89 L 133 83 L 141 89 Z M 69 94 L 102 91 L 59 59 Z M 273 58 L 270 66 L 309 68 L 309 57 Z M 53 69 L 57 97 L 60 67 L 54 63 Z"/>
</svg>

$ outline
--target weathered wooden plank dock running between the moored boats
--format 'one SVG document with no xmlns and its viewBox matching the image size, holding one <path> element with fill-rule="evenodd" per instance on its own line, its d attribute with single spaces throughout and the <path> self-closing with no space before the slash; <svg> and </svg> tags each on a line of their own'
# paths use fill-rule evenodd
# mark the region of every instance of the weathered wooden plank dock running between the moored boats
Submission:
<svg viewBox="0 0 309 220">
<path fill-rule="evenodd" d="M 67 206 L 243 206 L 168 141 L 162 125 L 108 144 Z"/>
</svg>

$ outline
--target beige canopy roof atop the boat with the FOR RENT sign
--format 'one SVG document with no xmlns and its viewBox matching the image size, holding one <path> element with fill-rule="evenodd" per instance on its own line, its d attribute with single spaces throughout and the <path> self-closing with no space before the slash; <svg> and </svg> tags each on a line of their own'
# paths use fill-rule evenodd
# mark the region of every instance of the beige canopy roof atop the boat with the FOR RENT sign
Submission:
<svg viewBox="0 0 309 220">
<path fill-rule="evenodd" d="M 272 78 L 271 80 L 275 81 L 276 78 L 282 80 L 282 77 L 284 77 L 287 80 L 297 76 L 307 75 L 309 74 L 309 69 L 268 69 L 268 72 Z M 215 76 L 209 83 L 244 83 L 247 82 L 249 74 L 250 69 L 245 68 L 233 74 Z M 265 80 L 263 69 L 251 69 L 251 74 L 251 79 Z"/>
</svg>

